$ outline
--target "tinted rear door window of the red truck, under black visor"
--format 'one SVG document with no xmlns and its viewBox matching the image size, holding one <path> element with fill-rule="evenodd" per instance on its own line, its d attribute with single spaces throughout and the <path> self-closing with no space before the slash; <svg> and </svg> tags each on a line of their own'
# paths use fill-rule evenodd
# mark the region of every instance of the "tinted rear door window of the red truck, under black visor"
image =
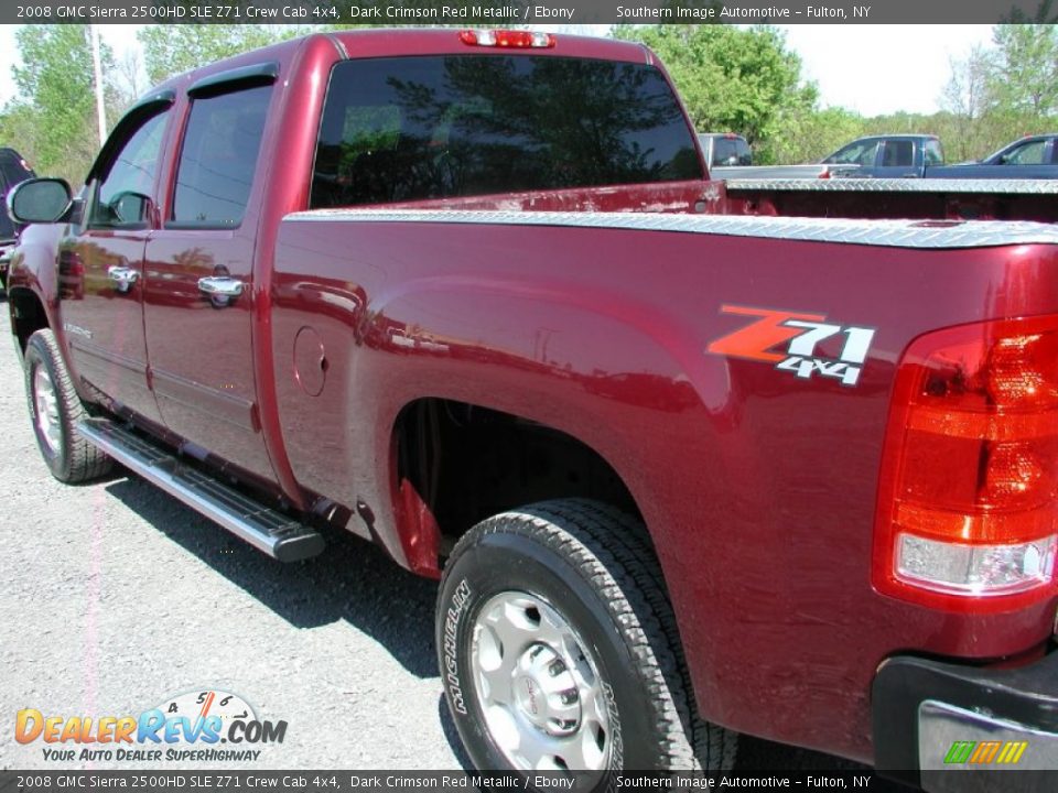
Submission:
<svg viewBox="0 0 1058 793">
<path fill-rule="evenodd" d="M 234 228 L 242 221 L 271 86 L 195 99 L 176 171 L 171 220 Z"/>
</svg>

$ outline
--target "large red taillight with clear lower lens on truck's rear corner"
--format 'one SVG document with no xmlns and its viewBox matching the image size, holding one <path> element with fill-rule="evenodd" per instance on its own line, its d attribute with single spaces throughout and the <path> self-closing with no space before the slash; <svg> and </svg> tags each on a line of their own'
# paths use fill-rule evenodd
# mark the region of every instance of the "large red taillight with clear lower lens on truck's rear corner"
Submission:
<svg viewBox="0 0 1058 793">
<path fill-rule="evenodd" d="M 1058 316 L 918 338 L 896 376 L 875 587 L 960 611 L 1052 596 Z"/>
</svg>

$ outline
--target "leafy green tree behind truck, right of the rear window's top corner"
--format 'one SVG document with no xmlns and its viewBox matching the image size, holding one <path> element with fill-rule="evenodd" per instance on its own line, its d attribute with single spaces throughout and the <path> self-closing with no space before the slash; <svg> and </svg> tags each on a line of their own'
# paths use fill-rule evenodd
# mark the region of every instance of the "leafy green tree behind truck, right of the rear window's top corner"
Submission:
<svg viewBox="0 0 1058 793">
<path fill-rule="evenodd" d="M 766 152 L 784 119 L 816 104 L 816 86 L 801 80 L 801 61 L 775 28 L 618 25 L 613 32 L 661 57 L 699 131 L 737 132 Z"/>
</svg>

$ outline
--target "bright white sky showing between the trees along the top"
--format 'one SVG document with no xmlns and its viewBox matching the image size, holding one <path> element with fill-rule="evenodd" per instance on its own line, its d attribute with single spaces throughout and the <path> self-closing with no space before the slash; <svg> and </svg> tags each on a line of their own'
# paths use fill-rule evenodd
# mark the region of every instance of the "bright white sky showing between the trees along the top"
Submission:
<svg viewBox="0 0 1058 793">
<path fill-rule="evenodd" d="M 119 58 L 138 47 L 136 31 L 141 25 L 98 26 Z M 802 76 L 819 85 L 821 104 L 864 116 L 938 110 L 951 59 L 992 40 L 990 25 L 779 26 L 786 31 L 789 47 L 801 57 Z M 14 95 L 10 75 L 18 54 L 17 29 L 0 25 L 0 105 Z"/>
</svg>

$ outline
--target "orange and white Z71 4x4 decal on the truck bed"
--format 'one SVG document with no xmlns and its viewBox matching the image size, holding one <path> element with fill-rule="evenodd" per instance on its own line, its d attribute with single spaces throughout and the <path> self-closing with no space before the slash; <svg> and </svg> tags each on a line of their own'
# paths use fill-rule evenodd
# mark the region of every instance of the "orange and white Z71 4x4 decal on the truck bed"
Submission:
<svg viewBox="0 0 1058 793">
<path fill-rule="evenodd" d="M 823 314 L 732 305 L 721 306 L 721 312 L 757 319 L 710 344 L 710 352 L 774 363 L 776 369 L 806 380 L 819 374 L 835 378 L 842 385 L 855 385 L 874 338 L 874 328 L 834 325 L 825 322 Z M 832 337 L 843 337 L 838 357 L 817 356 L 816 346 Z"/>
</svg>

